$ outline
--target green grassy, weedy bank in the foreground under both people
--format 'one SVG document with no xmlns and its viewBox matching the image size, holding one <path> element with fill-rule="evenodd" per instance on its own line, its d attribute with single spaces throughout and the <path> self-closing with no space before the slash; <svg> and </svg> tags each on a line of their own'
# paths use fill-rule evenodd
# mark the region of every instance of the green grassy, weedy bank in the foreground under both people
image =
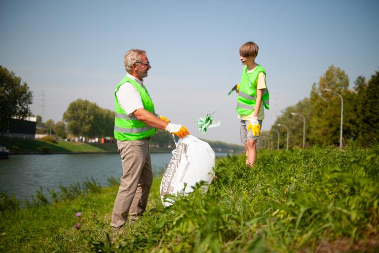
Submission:
<svg viewBox="0 0 379 253">
<path fill-rule="evenodd" d="M 146 214 L 107 239 L 117 185 L 66 188 L 54 204 L 0 212 L 3 252 L 378 252 L 379 146 L 260 152 L 218 162 L 207 194 Z M 87 194 L 85 194 L 87 193 Z M 53 198 L 54 199 L 54 198 Z M 3 200 L 2 200 L 3 201 Z M 12 203 L 12 201 L 7 200 Z M 3 202 L 2 202 L 3 203 Z M 45 203 L 45 204 L 43 204 Z M 10 206 L 11 205 L 7 205 Z M 75 214 L 80 212 L 80 217 Z M 80 224 L 80 229 L 73 226 Z"/>
</svg>

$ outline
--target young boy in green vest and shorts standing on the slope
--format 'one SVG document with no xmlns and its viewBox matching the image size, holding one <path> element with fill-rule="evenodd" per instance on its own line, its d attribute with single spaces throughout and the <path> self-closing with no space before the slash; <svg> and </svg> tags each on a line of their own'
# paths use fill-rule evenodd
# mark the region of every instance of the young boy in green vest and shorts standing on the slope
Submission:
<svg viewBox="0 0 379 253">
<path fill-rule="evenodd" d="M 237 113 L 241 119 L 241 142 L 245 144 L 246 165 L 253 166 L 257 158 L 257 138 L 260 134 L 264 109 L 268 109 L 266 72 L 257 63 L 258 45 L 246 42 L 239 48 L 244 65 L 240 84 L 237 85 Z"/>
</svg>

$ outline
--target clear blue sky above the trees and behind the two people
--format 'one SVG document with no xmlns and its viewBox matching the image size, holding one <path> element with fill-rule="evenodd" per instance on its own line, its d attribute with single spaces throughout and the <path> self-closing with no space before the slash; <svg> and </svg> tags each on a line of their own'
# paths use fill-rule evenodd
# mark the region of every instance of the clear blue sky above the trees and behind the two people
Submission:
<svg viewBox="0 0 379 253">
<path fill-rule="evenodd" d="M 197 137 L 239 143 L 236 94 L 214 115 L 206 135 L 195 120 L 211 113 L 239 82 L 238 48 L 260 46 L 270 110 L 263 130 L 289 105 L 309 96 L 330 65 L 350 86 L 379 67 L 379 1 L 0 1 L 0 65 L 34 93 L 44 121 L 62 120 L 77 98 L 114 110 L 114 88 L 126 74 L 123 55 L 147 51 L 145 79 L 156 112 Z"/>
</svg>

